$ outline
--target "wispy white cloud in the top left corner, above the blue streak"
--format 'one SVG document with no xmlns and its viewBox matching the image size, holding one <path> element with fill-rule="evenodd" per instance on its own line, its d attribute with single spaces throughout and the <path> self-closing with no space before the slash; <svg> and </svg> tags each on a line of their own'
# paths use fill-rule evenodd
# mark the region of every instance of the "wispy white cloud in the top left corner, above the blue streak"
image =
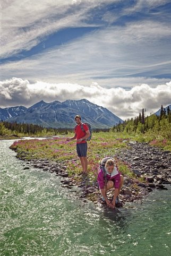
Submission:
<svg viewBox="0 0 171 256">
<path fill-rule="evenodd" d="M 42 38 L 61 29 L 87 26 L 84 23 L 87 12 L 102 3 L 104 1 L 42 0 L 33 3 L 23 0 L 22 4 L 20 0 L 4 1 L 1 11 L 1 57 L 30 50 Z"/>
</svg>

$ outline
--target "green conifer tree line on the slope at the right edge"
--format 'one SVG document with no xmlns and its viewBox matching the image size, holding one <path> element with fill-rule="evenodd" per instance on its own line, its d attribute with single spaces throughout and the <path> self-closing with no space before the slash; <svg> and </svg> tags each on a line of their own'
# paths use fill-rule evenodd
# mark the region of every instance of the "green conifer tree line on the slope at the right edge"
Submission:
<svg viewBox="0 0 171 256">
<path fill-rule="evenodd" d="M 113 132 L 125 132 L 128 134 L 156 133 L 166 139 L 171 138 L 171 111 L 161 105 L 160 114 L 152 114 L 145 117 L 144 108 L 142 113 L 135 118 L 127 118 L 123 123 L 113 126 Z"/>
</svg>

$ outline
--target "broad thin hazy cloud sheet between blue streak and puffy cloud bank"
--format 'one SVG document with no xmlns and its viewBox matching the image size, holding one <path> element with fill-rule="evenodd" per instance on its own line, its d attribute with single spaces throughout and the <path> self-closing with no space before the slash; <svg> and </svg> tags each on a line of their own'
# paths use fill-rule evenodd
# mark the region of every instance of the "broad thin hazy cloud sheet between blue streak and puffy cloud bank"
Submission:
<svg viewBox="0 0 171 256">
<path fill-rule="evenodd" d="M 140 80 L 140 76 L 170 73 L 170 43 L 167 41 L 170 36 L 171 28 L 167 24 L 154 22 L 129 23 L 123 28 L 94 31 L 29 59 L 2 64 L 1 79 L 18 76 L 52 83 L 86 85 L 97 82 L 105 87 L 132 87 L 146 83 L 146 78 Z M 125 76 L 130 78 L 124 79 Z M 115 83 L 119 79 L 123 84 Z"/>
</svg>

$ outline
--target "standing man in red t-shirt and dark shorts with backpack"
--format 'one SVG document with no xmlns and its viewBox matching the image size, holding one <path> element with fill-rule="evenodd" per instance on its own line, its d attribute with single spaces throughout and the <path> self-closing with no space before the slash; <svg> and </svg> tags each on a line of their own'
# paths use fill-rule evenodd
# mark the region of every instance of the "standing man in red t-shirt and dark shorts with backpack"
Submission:
<svg viewBox="0 0 171 256">
<path fill-rule="evenodd" d="M 78 157 L 80 158 L 81 165 L 82 165 L 82 172 L 83 175 L 87 175 L 87 141 L 86 139 L 90 136 L 89 128 L 86 124 L 81 123 L 81 116 L 75 116 L 75 134 L 72 138 L 66 138 L 67 141 L 76 139 L 76 152 Z M 81 125 L 83 126 L 83 130 L 81 129 Z"/>
</svg>

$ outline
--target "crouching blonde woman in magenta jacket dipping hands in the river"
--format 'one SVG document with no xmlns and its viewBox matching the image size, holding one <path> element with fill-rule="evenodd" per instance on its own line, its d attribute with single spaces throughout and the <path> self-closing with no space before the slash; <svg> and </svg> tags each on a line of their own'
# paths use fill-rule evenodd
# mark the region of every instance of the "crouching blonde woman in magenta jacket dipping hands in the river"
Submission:
<svg viewBox="0 0 171 256">
<path fill-rule="evenodd" d="M 118 168 L 113 159 L 106 161 L 105 167 L 101 167 L 98 173 L 97 181 L 102 195 L 102 200 L 108 207 L 114 208 L 115 203 L 119 202 L 119 192 L 123 186 L 123 176 L 118 172 Z M 107 199 L 106 192 L 115 188 L 112 203 Z"/>
</svg>

